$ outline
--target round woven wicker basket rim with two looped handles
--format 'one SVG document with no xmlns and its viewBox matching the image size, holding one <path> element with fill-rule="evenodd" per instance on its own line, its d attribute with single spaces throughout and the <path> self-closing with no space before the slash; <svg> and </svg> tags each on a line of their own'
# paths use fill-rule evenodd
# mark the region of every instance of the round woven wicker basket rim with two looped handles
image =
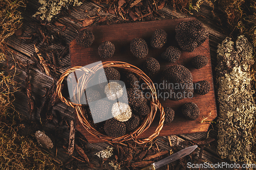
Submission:
<svg viewBox="0 0 256 170">
<path fill-rule="evenodd" d="M 100 132 L 98 132 L 93 123 L 91 123 L 91 121 L 88 120 L 88 117 L 86 115 L 84 115 L 84 111 L 82 108 L 82 105 L 80 104 L 74 104 L 70 101 L 67 101 L 61 93 L 61 84 L 63 82 L 63 80 L 65 79 L 65 77 L 67 77 L 71 72 L 77 71 L 77 70 L 82 70 L 85 71 L 86 73 L 84 74 L 84 76 L 82 77 L 82 89 L 86 89 L 88 82 L 93 78 L 94 76 L 94 72 L 96 72 L 99 69 L 102 69 L 102 65 L 103 67 L 114 67 L 117 70 L 122 70 L 125 72 L 132 72 L 133 74 L 135 74 L 139 79 L 141 79 L 142 81 L 144 81 L 147 89 L 149 89 L 149 91 L 151 92 L 151 98 L 150 98 L 150 108 L 151 108 L 151 112 L 149 114 L 147 114 L 144 119 L 142 120 L 142 123 L 132 132 L 125 134 L 124 136 L 120 136 L 120 137 L 110 137 L 110 136 L 106 136 L 105 134 L 102 134 Z M 163 123 L 164 123 L 164 111 L 163 111 L 163 107 L 161 106 L 160 102 L 157 99 L 157 93 L 156 93 L 156 88 L 154 86 L 154 83 L 152 82 L 152 80 L 138 67 L 131 65 L 129 63 L 125 63 L 125 62 L 120 62 L 120 61 L 106 61 L 106 62 L 102 62 L 101 64 L 98 64 L 94 67 L 92 67 L 91 69 L 87 69 L 84 68 L 82 66 L 75 66 L 72 67 L 68 70 L 66 70 L 60 77 L 60 79 L 57 82 L 57 89 L 56 92 L 58 94 L 59 99 L 66 103 L 68 106 L 71 106 L 73 108 L 75 108 L 75 111 L 77 113 L 77 117 L 80 121 L 80 123 L 82 124 L 82 126 L 93 136 L 95 136 L 96 138 L 100 138 L 103 139 L 105 141 L 109 141 L 109 142 L 113 142 L 113 143 L 119 143 L 119 142 L 123 142 L 123 141 L 127 141 L 127 140 L 131 140 L 133 139 L 135 142 L 139 143 L 139 144 L 143 144 L 143 143 L 147 143 L 152 141 L 154 138 L 156 138 L 159 134 L 159 132 L 162 130 L 163 128 Z M 155 132 L 149 136 L 148 138 L 145 139 L 139 139 L 139 135 L 141 133 L 143 133 L 144 131 L 146 131 L 150 125 L 152 124 L 155 116 L 156 116 L 156 112 L 157 112 L 157 108 L 159 108 L 160 110 L 160 120 L 159 120 L 159 125 L 157 126 Z"/>
</svg>

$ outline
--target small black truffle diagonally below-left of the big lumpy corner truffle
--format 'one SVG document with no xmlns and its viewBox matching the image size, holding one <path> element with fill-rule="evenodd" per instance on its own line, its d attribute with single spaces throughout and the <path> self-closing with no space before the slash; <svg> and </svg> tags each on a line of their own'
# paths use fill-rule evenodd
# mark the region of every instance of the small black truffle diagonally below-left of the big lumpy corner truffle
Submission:
<svg viewBox="0 0 256 170">
<path fill-rule="evenodd" d="M 161 57 L 170 63 L 174 63 L 179 60 L 181 51 L 176 46 L 169 46 L 165 52 L 162 53 Z"/>
</svg>

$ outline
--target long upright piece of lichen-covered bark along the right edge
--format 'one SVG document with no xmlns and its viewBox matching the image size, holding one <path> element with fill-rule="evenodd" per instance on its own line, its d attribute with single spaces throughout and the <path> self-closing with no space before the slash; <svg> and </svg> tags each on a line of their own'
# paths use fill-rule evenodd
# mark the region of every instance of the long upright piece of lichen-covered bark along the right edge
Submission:
<svg viewBox="0 0 256 170">
<path fill-rule="evenodd" d="M 256 110 L 251 90 L 253 48 L 244 36 L 218 45 L 218 154 L 222 159 L 251 163 L 251 130 Z"/>
</svg>

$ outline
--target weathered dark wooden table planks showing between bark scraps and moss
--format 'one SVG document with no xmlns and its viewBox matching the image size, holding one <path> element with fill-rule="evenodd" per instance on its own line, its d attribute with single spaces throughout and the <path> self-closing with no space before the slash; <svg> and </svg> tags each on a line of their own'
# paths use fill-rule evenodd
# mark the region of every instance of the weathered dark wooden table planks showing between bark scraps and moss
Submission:
<svg viewBox="0 0 256 170">
<path fill-rule="evenodd" d="M 24 24 L 23 24 L 23 36 L 28 35 L 30 32 L 33 32 L 33 27 L 35 23 L 38 23 L 36 18 L 33 18 L 32 15 L 37 11 L 39 8 L 39 3 L 37 1 L 28 1 L 28 5 L 25 11 L 23 11 L 23 17 L 24 17 Z M 203 4 L 200 6 L 199 12 L 193 11 L 193 14 L 183 14 L 178 11 L 174 11 L 172 6 L 165 6 L 161 10 L 158 10 L 159 16 L 155 17 L 157 20 L 164 20 L 164 19 L 172 19 L 172 18 L 184 18 L 184 17 L 196 17 L 198 20 L 200 20 L 204 26 L 206 27 L 207 31 L 209 32 L 209 46 L 210 46 L 210 57 L 211 57 L 211 64 L 212 64 L 212 71 L 214 75 L 214 81 L 215 81 L 215 66 L 216 66 L 216 50 L 217 45 L 222 42 L 227 36 L 229 36 L 228 30 L 226 28 L 223 28 L 223 26 L 220 23 L 219 18 L 222 18 L 222 12 L 220 10 L 220 7 L 218 4 L 214 4 L 215 9 L 214 13 L 212 13 L 212 8 L 207 6 L 206 4 Z M 106 16 L 106 21 L 103 23 L 96 23 L 97 20 L 99 20 L 99 17 L 95 18 L 95 22 L 93 25 L 106 25 L 108 23 L 111 23 L 113 21 L 116 21 L 119 19 L 119 16 L 117 17 L 116 14 L 107 13 L 104 11 L 104 8 L 102 6 L 92 3 L 92 2 L 83 2 L 83 4 L 79 7 L 72 7 L 69 11 L 70 14 L 68 17 L 62 17 L 58 19 L 57 21 L 59 23 L 62 23 L 67 28 L 65 31 L 61 31 L 63 27 L 54 27 L 51 26 L 54 32 L 59 32 L 63 38 L 65 38 L 65 41 L 67 43 L 71 42 L 77 34 L 77 31 L 82 27 L 80 22 L 74 21 L 74 19 L 84 19 L 88 17 L 95 16 L 95 13 L 97 12 L 99 16 L 104 17 Z M 137 20 L 136 22 L 140 22 L 142 19 Z M 26 44 L 24 41 L 21 41 L 16 36 L 11 36 L 7 44 L 10 48 L 15 52 L 15 55 L 9 56 L 8 65 L 9 68 L 14 65 L 14 60 L 18 61 L 17 69 L 16 69 L 16 76 L 15 81 L 18 83 L 20 87 L 22 87 L 21 91 L 18 91 L 15 93 L 16 100 L 14 101 L 13 105 L 15 106 L 15 109 L 20 113 L 22 117 L 28 117 L 28 103 L 27 103 L 27 95 L 23 88 L 25 88 L 25 79 L 27 77 L 26 75 L 26 68 L 23 67 L 23 65 L 26 65 L 27 61 L 32 62 L 31 56 L 35 53 L 35 48 L 33 44 Z M 52 48 L 63 48 L 58 46 L 51 46 Z M 13 60 L 14 59 L 14 60 Z M 56 78 L 58 78 L 63 72 L 65 72 L 68 68 L 71 67 L 70 65 L 70 56 L 69 54 L 65 56 L 61 61 L 58 61 L 58 65 L 62 66 L 57 70 L 57 73 L 55 75 Z M 14 70 L 9 70 L 9 72 L 13 72 Z M 37 67 L 31 66 L 30 71 L 31 76 L 31 83 L 32 83 L 32 94 L 36 101 L 36 106 L 38 107 L 38 110 L 41 107 L 42 101 L 44 99 L 44 94 L 46 93 L 46 89 L 49 89 L 54 79 L 51 77 L 48 77 L 45 72 L 41 72 Z M 216 90 L 216 89 L 215 89 Z M 218 105 L 217 105 L 218 108 Z M 67 119 L 68 124 L 70 124 L 71 120 L 74 120 L 75 113 L 74 109 L 71 107 L 67 107 L 64 103 L 58 103 L 54 106 L 54 110 L 58 110 L 61 117 L 65 116 Z M 218 110 L 218 109 L 217 109 Z M 39 119 L 38 112 L 34 115 L 35 119 Z M 50 131 L 53 134 L 55 133 L 55 126 L 48 124 L 46 127 L 44 127 L 44 130 Z M 67 141 L 69 139 L 69 127 L 67 125 L 63 125 L 61 127 L 63 130 L 63 133 L 56 134 L 58 138 L 63 139 L 64 141 Z M 176 145 L 179 144 L 179 142 L 183 140 L 195 140 L 195 139 L 205 139 L 207 137 L 215 138 L 216 140 L 214 142 L 211 142 L 209 145 L 207 145 L 204 148 L 203 152 L 203 159 L 206 159 L 210 161 L 211 163 L 217 163 L 217 162 L 223 162 L 224 160 L 220 159 L 218 156 L 216 150 L 217 150 L 217 127 L 215 124 L 212 124 L 212 126 L 209 127 L 209 133 L 196 133 L 196 134 L 186 134 L 186 135 L 175 135 L 170 136 L 172 139 L 172 144 Z M 157 137 L 156 143 L 160 148 L 163 149 L 170 149 L 169 142 L 167 136 L 163 137 Z M 96 152 L 99 152 L 101 150 L 104 150 L 109 143 L 102 142 L 102 143 L 88 143 L 88 148 L 93 148 L 92 155 L 93 156 Z M 197 149 L 196 152 L 199 153 L 200 149 Z M 68 155 L 64 154 L 65 152 L 63 149 L 58 150 L 57 158 L 58 160 L 65 162 L 67 161 Z M 95 159 L 92 160 L 94 164 L 99 164 L 99 158 L 94 156 Z M 91 159 L 91 157 L 90 157 Z M 90 169 L 89 167 L 84 169 Z M 94 169 L 100 169 L 99 167 L 94 167 Z"/>
</svg>

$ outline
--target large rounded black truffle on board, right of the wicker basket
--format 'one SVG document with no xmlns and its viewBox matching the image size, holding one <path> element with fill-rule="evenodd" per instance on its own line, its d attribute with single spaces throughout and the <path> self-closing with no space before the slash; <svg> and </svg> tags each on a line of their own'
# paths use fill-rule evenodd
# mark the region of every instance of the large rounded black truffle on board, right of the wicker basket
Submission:
<svg viewBox="0 0 256 170">
<path fill-rule="evenodd" d="M 160 83 L 164 83 L 163 92 L 170 100 L 192 98 L 194 87 L 191 72 L 183 65 L 173 65 L 162 72 Z"/>
</svg>

